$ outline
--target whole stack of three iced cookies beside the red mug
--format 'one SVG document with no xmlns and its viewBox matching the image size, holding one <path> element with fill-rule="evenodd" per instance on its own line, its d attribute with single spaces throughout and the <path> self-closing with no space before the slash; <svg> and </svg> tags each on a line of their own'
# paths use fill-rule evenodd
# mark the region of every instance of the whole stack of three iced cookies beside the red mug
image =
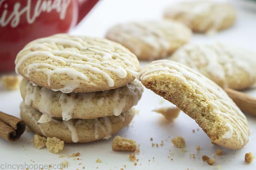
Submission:
<svg viewBox="0 0 256 170">
<path fill-rule="evenodd" d="M 36 133 L 64 142 L 108 139 L 128 125 L 143 87 L 139 62 L 115 42 L 57 34 L 17 55 L 20 116 Z"/>
</svg>

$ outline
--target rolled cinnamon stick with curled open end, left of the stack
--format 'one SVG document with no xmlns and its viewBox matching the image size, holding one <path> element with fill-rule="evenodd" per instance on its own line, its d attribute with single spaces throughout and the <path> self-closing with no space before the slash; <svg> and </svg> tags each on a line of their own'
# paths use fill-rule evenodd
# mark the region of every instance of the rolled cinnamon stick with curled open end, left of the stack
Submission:
<svg viewBox="0 0 256 170">
<path fill-rule="evenodd" d="M 16 141 L 26 130 L 23 120 L 0 111 L 0 137 L 8 141 Z"/>
</svg>

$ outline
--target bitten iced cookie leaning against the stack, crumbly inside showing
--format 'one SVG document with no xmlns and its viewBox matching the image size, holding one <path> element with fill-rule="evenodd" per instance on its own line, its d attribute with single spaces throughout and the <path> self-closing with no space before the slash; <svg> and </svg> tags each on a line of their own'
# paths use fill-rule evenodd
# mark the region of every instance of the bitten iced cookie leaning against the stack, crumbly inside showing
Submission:
<svg viewBox="0 0 256 170">
<path fill-rule="evenodd" d="M 225 91 L 204 75 L 178 62 L 158 60 L 142 69 L 141 81 L 195 119 L 213 143 L 229 149 L 247 144 L 246 117 Z"/>
</svg>

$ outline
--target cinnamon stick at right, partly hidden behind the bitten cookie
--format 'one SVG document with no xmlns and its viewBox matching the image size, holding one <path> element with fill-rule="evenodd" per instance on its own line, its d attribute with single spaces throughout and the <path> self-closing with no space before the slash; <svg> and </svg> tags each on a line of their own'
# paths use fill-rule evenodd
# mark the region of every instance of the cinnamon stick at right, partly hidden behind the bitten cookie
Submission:
<svg viewBox="0 0 256 170">
<path fill-rule="evenodd" d="M 241 111 L 256 116 L 256 98 L 230 88 L 224 90 L 230 98 L 233 99 Z"/>
</svg>

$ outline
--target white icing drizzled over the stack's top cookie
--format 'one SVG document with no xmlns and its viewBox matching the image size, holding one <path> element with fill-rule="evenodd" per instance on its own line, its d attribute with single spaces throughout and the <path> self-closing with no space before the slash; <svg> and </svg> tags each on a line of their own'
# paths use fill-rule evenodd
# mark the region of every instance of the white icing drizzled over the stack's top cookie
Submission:
<svg viewBox="0 0 256 170">
<path fill-rule="evenodd" d="M 87 41 L 99 42 L 102 45 L 91 45 Z M 125 51 L 114 52 L 111 49 L 115 45 L 105 39 L 56 34 L 26 45 L 17 55 L 15 69 L 18 73 L 19 68 L 32 57 L 47 57 L 44 61 L 35 60 L 29 63 L 22 72 L 26 72 L 26 77 L 31 73 L 43 72 L 48 77 L 49 86 L 53 75 L 67 75 L 73 79 L 72 82 L 64 84 L 64 88 L 52 89 L 63 93 L 70 93 L 79 87 L 79 79 L 83 79 L 88 85 L 96 86 L 91 81 L 95 74 L 105 79 L 109 87 L 113 87 L 115 83 L 112 76 L 124 79 L 128 74 L 127 69 L 130 72 L 137 71 L 136 56 Z M 121 46 L 116 48 L 121 49 Z M 84 74 L 85 72 L 89 73 Z"/>
</svg>

